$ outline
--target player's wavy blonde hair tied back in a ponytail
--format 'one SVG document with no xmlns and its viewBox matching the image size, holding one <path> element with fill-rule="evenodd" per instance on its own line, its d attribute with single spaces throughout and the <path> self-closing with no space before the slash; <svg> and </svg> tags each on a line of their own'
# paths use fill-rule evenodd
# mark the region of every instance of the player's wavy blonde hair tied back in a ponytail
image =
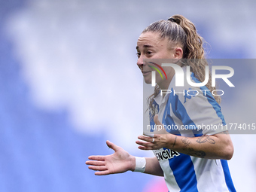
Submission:
<svg viewBox="0 0 256 192">
<path fill-rule="evenodd" d="M 173 15 L 169 17 L 168 20 L 159 20 L 157 22 L 151 23 L 142 33 L 145 32 L 158 32 L 160 38 L 169 39 L 170 45 L 181 46 L 183 50 L 183 59 L 187 59 L 182 66 L 190 66 L 190 72 L 193 72 L 195 77 L 203 82 L 206 78 L 206 66 L 208 62 L 205 58 L 205 51 L 203 49 L 203 38 L 197 33 L 197 29 L 194 24 L 187 20 L 187 18 L 181 15 Z M 215 90 L 212 87 L 211 73 L 209 72 L 209 81 L 206 87 L 211 91 Z M 154 89 L 154 94 L 149 96 L 148 103 L 149 108 L 152 107 L 153 98 L 160 92 L 160 87 L 156 86 Z M 214 96 L 218 103 L 221 103 L 220 96 Z M 154 113 L 154 110 L 151 110 Z"/>
</svg>

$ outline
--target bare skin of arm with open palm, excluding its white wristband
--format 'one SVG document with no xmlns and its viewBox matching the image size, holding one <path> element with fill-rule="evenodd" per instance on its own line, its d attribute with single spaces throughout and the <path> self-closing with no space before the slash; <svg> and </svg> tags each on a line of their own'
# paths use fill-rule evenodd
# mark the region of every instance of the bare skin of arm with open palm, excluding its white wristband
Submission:
<svg viewBox="0 0 256 192">
<path fill-rule="evenodd" d="M 107 141 L 109 148 L 114 150 L 110 155 L 94 155 L 88 157 L 86 164 L 88 168 L 95 170 L 95 175 L 109 175 L 126 171 L 134 171 L 136 158 L 130 155 L 123 148 Z M 156 157 L 146 157 L 145 173 L 163 176 L 163 171 Z"/>
</svg>

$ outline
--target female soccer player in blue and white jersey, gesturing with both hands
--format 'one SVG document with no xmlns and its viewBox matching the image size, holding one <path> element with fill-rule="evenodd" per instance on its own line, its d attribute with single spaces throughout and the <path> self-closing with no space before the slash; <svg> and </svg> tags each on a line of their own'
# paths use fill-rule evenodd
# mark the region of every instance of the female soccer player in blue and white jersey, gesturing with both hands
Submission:
<svg viewBox="0 0 256 192">
<path fill-rule="evenodd" d="M 203 38 L 190 20 L 174 15 L 148 26 L 137 42 L 137 65 L 147 84 L 152 81 L 154 62 L 147 59 L 172 59 L 194 83 L 203 82 L 208 66 L 203 50 Z M 182 59 L 187 59 L 185 62 Z M 153 64 L 152 64 L 153 63 Z M 163 67 L 164 68 L 164 67 Z M 211 81 L 203 87 L 175 87 L 175 71 L 165 67 L 166 78 L 156 75 L 154 94 L 149 98 L 151 125 L 194 126 L 200 124 L 224 125 L 218 105 L 220 98 L 212 95 Z M 184 73 L 186 74 L 186 73 Z M 211 79 L 211 78 L 209 78 Z M 197 90 L 197 96 L 160 94 L 160 90 Z M 208 90 L 203 93 L 199 90 Z M 164 176 L 169 191 L 236 191 L 227 160 L 233 156 L 233 144 L 227 132 L 221 130 L 157 130 L 152 136 L 139 136 L 136 143 L 142 150 L 153 150 L 155 157 L 134 157 L 123 148 L 107 141 L 114 154 L 90 156 L 86 162 L 95 175 L 108 175 L 128 170 Z M 166 133 L 166 134 L 162 134 Z"/>
</svg>

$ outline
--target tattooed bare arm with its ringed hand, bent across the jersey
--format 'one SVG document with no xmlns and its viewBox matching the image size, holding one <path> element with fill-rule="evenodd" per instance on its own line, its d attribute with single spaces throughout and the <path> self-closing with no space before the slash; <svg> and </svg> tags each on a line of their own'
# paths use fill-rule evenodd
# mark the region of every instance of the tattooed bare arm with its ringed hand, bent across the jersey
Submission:
<svg viewBox="0 0 256 192">
<path fill-rule="evenodd" d="M 157 115 L 154 121 L 157 125 L 161 124 Z M 230 160 L 233 156 L 233 144 L 227 132 L 194 138 L 175 136 L 166 132 L 166 134 L 154 134 L 154 143 L 152 143 L 153 138 L 148 136 L 138 138 L 142 139 L 142 141 L 136 141 L 142 150 L 169 148 L 182 154 L 209 159 Z"/>
</svg>

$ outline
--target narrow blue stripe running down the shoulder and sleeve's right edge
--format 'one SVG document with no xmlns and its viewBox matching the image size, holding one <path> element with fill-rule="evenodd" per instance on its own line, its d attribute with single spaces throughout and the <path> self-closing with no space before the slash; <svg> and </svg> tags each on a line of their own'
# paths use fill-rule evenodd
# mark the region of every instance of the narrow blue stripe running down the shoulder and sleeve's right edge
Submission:
<svg viewBox="0 0 256 192">
<path fill-rule="evenodd" d="M 200 81 L 198 81 L 198 79 L 195 77 L 194 73 L 191 74 L 191 78 L 194 80 L 194 82 L 200 83 Z M 201 90 L 209 90 L 206 86 L 200 87 L 200 89 Z M 221 113 L 221 106 L 218 105 L 218 102 L 216 102 L 216 100 L 214 99 L 214 97 L 212 96 L 212 93 L 210 93 L 210 91 L 206 91 L 206 98 L 208 99 L 208 102 L 212 105 L 212 108 L 215 109 L 215 112 L 218 115 L 218 117 L 221 118 L 222 124 L 226 125 L 224 116 Z"/>
</svg>

